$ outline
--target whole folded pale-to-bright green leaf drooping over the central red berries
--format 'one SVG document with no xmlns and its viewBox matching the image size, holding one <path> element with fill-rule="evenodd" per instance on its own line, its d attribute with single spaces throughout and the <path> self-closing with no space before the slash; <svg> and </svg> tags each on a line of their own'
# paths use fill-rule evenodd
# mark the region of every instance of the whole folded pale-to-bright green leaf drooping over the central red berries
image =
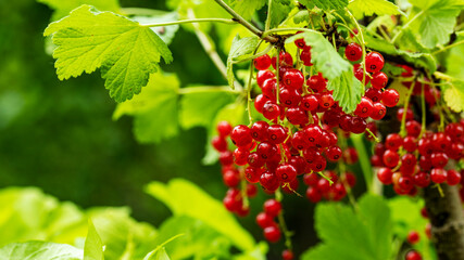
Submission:
<svg viewBox="0 0 464 260">
<path fill-rule="evenodd" d="M 334 100 L 339 102 L 344 112 L 353 112 L 363 92 L 362 83 L 353 75 L 353 66 L 343 60 L 319 32 L 298 34 L 288 38 L 286 42 L 301 38 L 311 46 L 311 62 L 328 79 L 327 88 L 334 90 Z"/>
</svg>

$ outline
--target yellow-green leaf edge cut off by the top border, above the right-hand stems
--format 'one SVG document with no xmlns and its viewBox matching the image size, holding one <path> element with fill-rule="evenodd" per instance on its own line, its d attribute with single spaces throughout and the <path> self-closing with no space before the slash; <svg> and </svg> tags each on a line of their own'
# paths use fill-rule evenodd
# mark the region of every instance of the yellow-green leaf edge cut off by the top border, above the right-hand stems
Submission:
<svg viewBox="0 0 464 260">
<path fill-rule="evenodd" d="M 348 4 L 348 9 L 356 18 L 374 14 L 403 14 L 399 6 L 387 0 L 354 0 Z"/>
</svg>

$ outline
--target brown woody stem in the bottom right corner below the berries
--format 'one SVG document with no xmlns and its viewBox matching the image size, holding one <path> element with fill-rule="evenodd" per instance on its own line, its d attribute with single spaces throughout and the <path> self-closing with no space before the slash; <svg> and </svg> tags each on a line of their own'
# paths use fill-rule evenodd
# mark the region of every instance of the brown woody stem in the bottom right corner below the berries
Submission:
<svg viewBox="0 0 464 260">
<path fill-rule="evenodd" d="M 464 260 L 464 213 L 457 185 L 424 188 L 425 206 L 431 223 L 431 242 L 439 260 Z"/>
</svg>

